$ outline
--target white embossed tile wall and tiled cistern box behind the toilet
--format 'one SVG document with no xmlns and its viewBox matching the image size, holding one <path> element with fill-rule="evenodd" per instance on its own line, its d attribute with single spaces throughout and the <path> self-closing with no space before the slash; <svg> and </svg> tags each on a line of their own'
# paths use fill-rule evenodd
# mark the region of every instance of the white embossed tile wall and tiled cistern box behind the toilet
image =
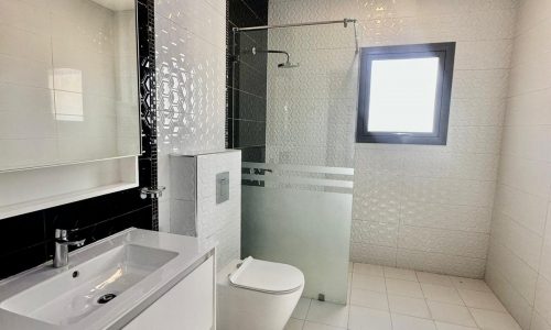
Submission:
<svg viewBox="0 0 551 330">
<path fill-rule="evenodd" d="M 240 153 L 198 156 L 201 166 L 169 154 L 225 147 L 226 2 L 155 0 L 155 33 L 160 185 L 170 188 L 171 227 L 217 242 L 222 267 L 240 257 Z M 215 175 L 224 170 L 234 178 L 230 200 L 216 205 Z"/>
</svg>

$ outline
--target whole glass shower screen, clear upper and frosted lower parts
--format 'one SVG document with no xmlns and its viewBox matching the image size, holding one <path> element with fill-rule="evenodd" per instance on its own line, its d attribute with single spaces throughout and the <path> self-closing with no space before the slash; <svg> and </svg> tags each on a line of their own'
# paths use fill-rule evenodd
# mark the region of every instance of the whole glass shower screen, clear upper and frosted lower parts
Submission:
<svg viewBox="0 0 551 330">
<path fill-rule="evenodd" d="M 355 36 L 348 19 L 235 29 L 228 88 L 228 144 L 242 150 L 244 160 L 242 257 L 294 265 L 305 276 L 304 296 L 342 304 L 353 204 Z"/>
</svg>

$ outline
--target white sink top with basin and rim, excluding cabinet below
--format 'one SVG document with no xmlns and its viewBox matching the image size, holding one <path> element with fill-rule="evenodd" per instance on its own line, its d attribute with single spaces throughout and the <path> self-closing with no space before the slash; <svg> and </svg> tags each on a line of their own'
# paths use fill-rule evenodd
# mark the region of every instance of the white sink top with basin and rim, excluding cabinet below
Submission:
<svg viewBox="0 0 551 330">
<path fill-rule="evenodd" d="M 0 282 L 0 329 L 119 329 L 182 279 L 213 246 L 129 229 Z"/>
</svg>

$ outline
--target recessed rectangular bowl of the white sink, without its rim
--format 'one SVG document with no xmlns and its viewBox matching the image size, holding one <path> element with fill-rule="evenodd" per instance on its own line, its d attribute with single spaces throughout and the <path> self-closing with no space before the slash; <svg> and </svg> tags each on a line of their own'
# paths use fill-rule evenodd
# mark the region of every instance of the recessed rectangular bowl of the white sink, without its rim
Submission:
<svg viewBox="0 0 551 330">
<path fill-rule="evenodd" d="M 2 301 L 0 308 L 50 324 L 80 321 L 179 253 L 122 244 Z"/>
</svg>

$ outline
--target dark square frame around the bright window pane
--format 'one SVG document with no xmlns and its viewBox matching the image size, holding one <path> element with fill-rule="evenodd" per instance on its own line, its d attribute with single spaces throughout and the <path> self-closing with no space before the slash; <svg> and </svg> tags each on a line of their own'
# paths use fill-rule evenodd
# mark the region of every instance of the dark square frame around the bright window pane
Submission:
<svg viewBox="0 0 551 330">
<path fill-rule="evenodd" d="M 439 81 L 433 133 L 369 132 L 369 92 L 374 59 L 408 59 L 439 57 Z M 400 46 L 363 47 L 360 53 L 359 98 L 356 128 L 358 143 L 445 145 L 450 120 L 455 43 L 433 43 Z"/>
</svg>

